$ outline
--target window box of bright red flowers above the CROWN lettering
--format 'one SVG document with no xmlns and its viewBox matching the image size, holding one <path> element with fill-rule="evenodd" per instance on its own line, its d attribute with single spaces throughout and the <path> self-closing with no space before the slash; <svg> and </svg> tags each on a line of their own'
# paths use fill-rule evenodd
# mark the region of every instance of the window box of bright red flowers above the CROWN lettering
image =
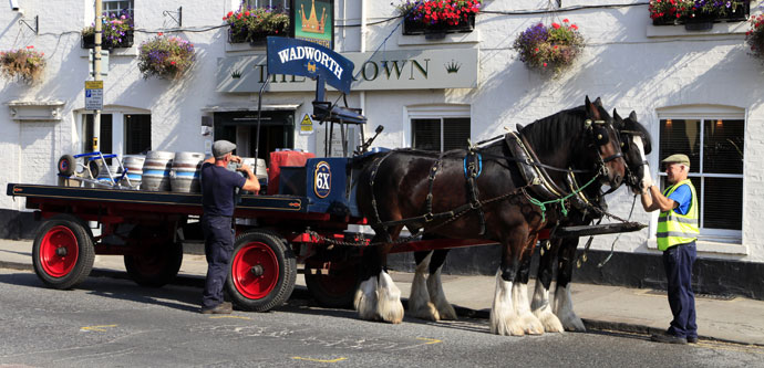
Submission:
<svg viewBox="0 0 764 368">
<path fill-rule="evenodd" d="M 403 15 L 403 34 L 472 32 L 481 0 L 407 0 L 396 6 Z"/>
</svg>

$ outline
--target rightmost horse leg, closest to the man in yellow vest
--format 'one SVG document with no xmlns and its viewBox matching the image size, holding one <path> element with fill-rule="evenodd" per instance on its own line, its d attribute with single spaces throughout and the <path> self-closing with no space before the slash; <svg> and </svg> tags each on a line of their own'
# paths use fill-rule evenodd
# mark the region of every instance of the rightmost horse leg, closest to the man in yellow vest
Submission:
<svg viewBox="0 0 764 368">
<path fill-rule="evenodd" d="M 555 314 L 562 323 L 566 330 L 585 332 L 584 322 L 572 309 L 570 293 L 570 280 L 572 278 L 572 264 L 576 256 L 578 238 L 562 240 L 560 245 L 559 270 L 557 270 L 557 288 L 555 290 Z"/>
</svg>

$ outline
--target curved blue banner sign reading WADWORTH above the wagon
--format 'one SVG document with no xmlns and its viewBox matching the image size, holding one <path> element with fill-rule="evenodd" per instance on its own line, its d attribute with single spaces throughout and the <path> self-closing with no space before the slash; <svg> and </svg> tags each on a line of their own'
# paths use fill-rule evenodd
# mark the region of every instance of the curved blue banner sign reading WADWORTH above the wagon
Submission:
<svg viewBox="0 0 764 368">
<path fill-rule="evenodd" d="M 332 87 L 350 93 L 353 62 L 313 42 L 268 38 L 268 74 L 321 76 Z"/>
</svg>

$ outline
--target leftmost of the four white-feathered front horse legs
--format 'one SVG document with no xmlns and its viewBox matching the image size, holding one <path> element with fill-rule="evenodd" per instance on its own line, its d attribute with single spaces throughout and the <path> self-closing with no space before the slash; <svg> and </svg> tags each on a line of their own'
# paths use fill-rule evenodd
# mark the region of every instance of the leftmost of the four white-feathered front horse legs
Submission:
<svg viewBox="0 0 764 368">
<path fill-rule="evenodd" d="M 518 231 L 519 232 L 519 231 Z M 515 234 L 516 239 L 505 240 L 502 246 L 502 264 L 496 272 L 496 290 L 494 291 L 494 303 L 491 307 L 491 333 L 496 335 L 525 335 L 525 328 L 517 317 L 517 311 L 513 303 L 513 283 L 519 269 L 519 242 L 524 242 L 527 232 Z M 519 239 L 523 236 L 523 239 Z M 516 251 L 517 250 L 517 251 Z"/>
</svg>

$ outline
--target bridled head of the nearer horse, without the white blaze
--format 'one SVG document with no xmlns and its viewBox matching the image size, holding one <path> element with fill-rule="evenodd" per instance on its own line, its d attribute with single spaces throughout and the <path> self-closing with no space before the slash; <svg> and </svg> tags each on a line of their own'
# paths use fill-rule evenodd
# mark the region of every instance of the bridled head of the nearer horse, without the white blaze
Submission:
<svg viewBox="0 0 764 368">
<path fill-rule="evenodd" d="M 588 132 L 588 146 L 596 147 L 598 166 L 601 170 L 600 174 L 603 176 L 602 181 L 610 186 L 610 188 L 618 188 L 626 177 L 627 169 L 615 120 L 602 107 L 602 102 L 599 97 L 592 103 L 589 101 L 589 96 L 586 96 L 584 106 L 586 109 L 585 127 Z"/>
</svg>

